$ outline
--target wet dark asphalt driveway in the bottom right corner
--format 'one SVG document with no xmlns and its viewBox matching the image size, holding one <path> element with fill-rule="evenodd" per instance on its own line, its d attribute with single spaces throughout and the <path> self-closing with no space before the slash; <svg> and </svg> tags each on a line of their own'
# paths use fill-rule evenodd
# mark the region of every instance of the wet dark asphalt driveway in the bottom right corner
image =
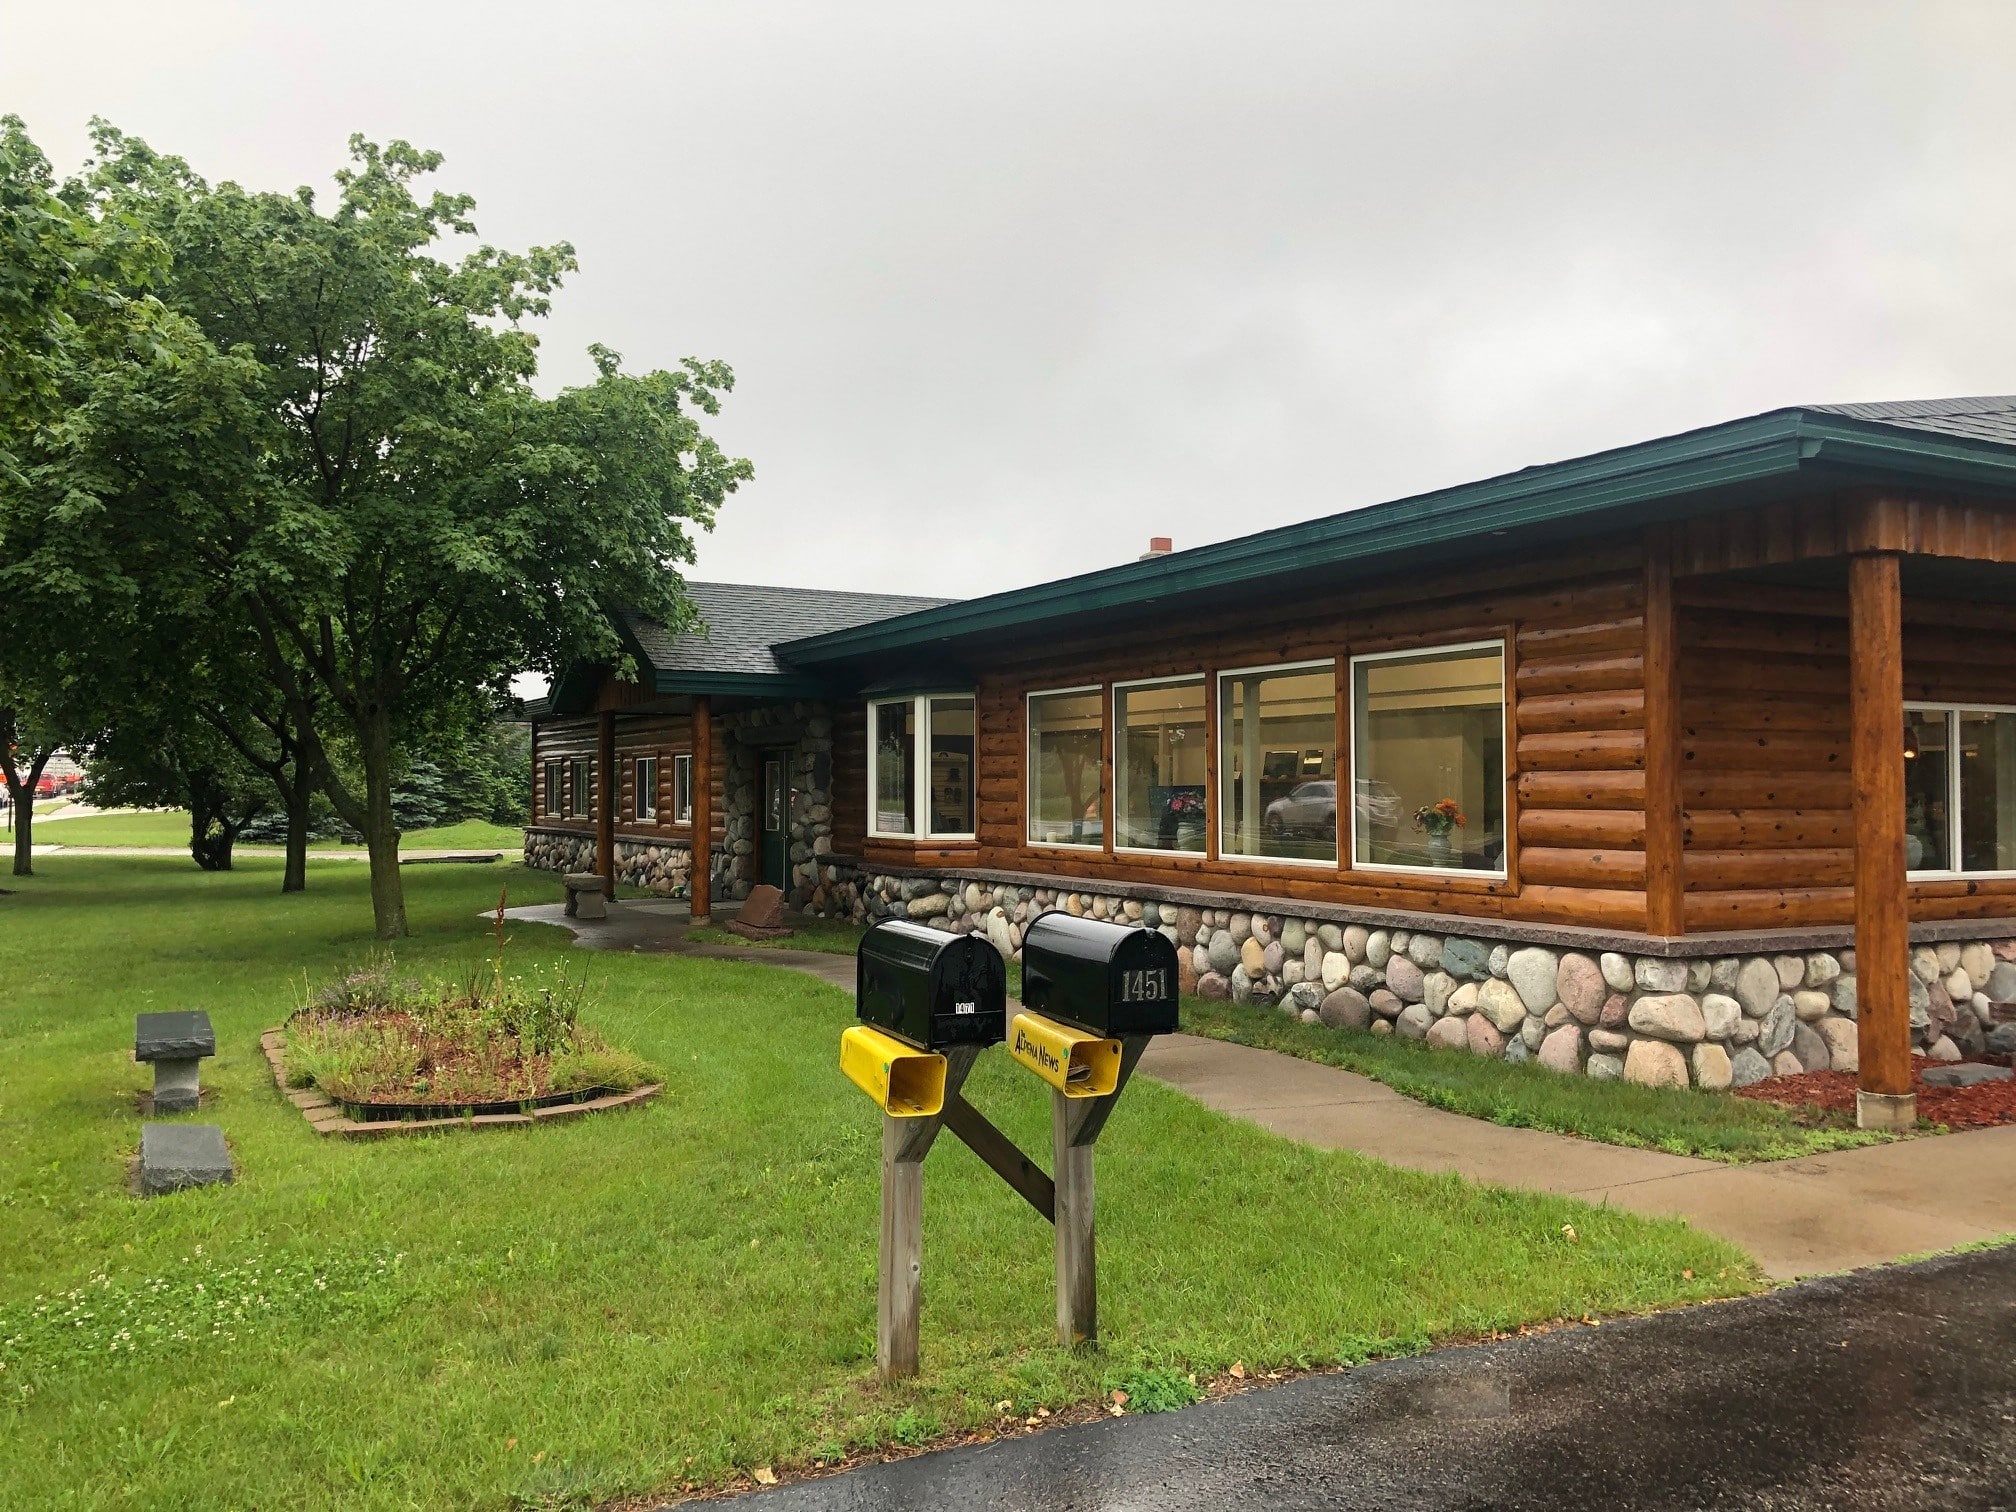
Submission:
<svg viewBox="0 0 2016 1512">
<path fill-rule="evenodd" d="M 752 1512 L 2016 1508 L 2016 1248 L 871 1466 Z"/>
</svg>

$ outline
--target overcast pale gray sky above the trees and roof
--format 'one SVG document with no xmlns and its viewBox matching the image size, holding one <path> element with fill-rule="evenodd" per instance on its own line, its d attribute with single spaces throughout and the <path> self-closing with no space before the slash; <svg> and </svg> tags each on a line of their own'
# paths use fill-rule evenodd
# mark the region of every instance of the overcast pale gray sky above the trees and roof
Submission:
<svg viewBox="0 0 2016 1512">
<path fill-rule="evenodd" d="M 1796 401 L 2016 389 L 2016 6 L 0 0 L 0 109 L 448 155 L 738 375 L 698 577 L 972 595 Z"/>
</svg>

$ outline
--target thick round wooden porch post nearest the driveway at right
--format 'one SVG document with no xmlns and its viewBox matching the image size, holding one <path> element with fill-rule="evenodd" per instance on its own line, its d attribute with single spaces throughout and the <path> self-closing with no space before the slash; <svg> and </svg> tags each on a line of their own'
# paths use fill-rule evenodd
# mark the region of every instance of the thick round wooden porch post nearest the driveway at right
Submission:
<svg viewBox="0 0 2016 1512">
<path fill-rule="evenodd" d="M 1849 558 L 1849 760 L 1855 778 L 1855 996 L 1863 1129 L 1909 1129 L 1909 903 L 1903 845 L 1903 595 L 1895 552 Z"/>
</svg>

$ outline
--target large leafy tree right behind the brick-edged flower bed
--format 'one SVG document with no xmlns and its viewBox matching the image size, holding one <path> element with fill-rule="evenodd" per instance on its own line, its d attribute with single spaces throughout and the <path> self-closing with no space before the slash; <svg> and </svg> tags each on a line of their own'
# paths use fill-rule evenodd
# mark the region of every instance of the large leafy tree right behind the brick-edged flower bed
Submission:
<svg viewBox="0 0 2016 1512">
<path fill-rule="evenodd" d="M 163 300 L 256 369 L 220 399 L 210 482 L 173 490 L 157 518 L 220 609 L 244 613 L 306 760 L 371 849 L 377 933 L 393 937 L 401 750 L 472 694 L 502 698 L 520 667 L 621 661 L 607 605 L 685 623 L 689 530 L 750 466 L 700 425 L 734 383 L 722 363 L 625 375 L 595 347 L 595 383 L 538 395 L 522 323 L 546 312 L 573 250 L 448 262 L 435 244 L 474 226 L 468 196 L 415 187 L 439 155 L 353 137 L 351 157 L 325 212 L 308 190 L 212 187 L 99 125 L 77 198 L 159 238 Z M 135 415 L 145 429 L 137 399 Z M 317 698 L 357 784 L 302 714 Z"/>
</svg>

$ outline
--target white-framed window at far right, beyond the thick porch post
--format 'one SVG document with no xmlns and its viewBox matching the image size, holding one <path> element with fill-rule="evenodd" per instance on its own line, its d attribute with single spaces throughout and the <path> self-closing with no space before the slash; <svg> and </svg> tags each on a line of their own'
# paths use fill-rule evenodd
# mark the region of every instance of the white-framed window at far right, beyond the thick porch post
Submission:
<svg viewBox="0 0 2016 1512">
<path fill-rule="evenodd" d="M 2016 873 L 2016 710 L 1911 706 L 1903 756 L 1905 865 Z"/>
</svg>

